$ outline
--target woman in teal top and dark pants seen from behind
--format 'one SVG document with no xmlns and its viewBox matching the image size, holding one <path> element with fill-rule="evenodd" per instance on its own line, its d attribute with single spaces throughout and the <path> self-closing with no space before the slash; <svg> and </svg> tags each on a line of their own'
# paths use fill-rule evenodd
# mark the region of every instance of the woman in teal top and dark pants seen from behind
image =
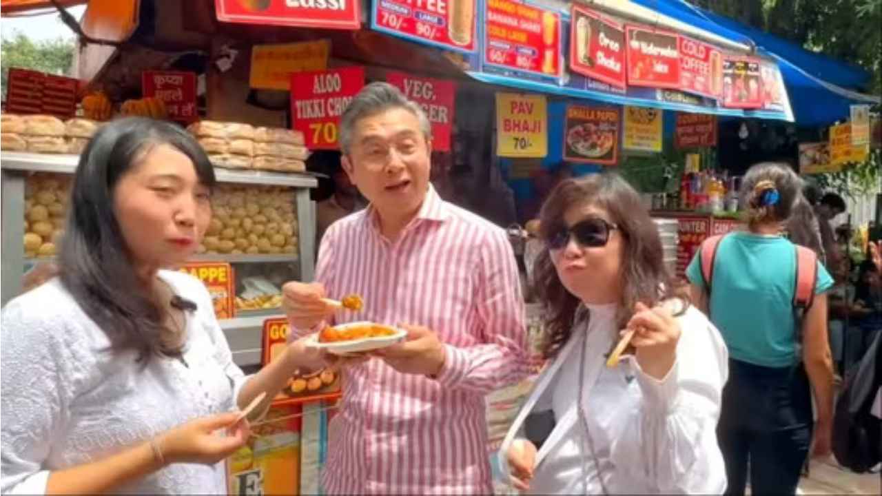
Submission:
<svg viewBox="0 0 882 496">
<path fill-rule="evenodd" d="M 786 164 L 751 167 L 739 196 L 748 230 L 722 238 L 712 282 L 702 274 L 700 251 L 686 270 L 692 300 L 708 313 L 729 346 L 730 376 L 717 429 L 727 494 L 744 494 L 748 462 L 753 493 L 793 494 L 812 433 L 814 453 L 830 452 L 833 364 L 826 291 L 833 279 L 818 262 L 813 303 L 797 320 L 796 249 L 780 236 L 800 191 L 800 178 Z M 812 418 L 812 391 L 817 421 Z M 746 405 L 750 410 L 744 410 Z"/>
</svg>

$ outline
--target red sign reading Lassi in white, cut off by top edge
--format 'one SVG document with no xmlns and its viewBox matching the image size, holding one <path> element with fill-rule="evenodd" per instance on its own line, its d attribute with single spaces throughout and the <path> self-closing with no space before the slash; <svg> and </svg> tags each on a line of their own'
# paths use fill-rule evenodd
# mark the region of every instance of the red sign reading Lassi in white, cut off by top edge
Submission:
<svg viewBox="0 0 882 496">
<path fill-rule="evenodd" d="M 221 22 L 359 29 L 359 0 L 214 0 Z"/>
</svg>

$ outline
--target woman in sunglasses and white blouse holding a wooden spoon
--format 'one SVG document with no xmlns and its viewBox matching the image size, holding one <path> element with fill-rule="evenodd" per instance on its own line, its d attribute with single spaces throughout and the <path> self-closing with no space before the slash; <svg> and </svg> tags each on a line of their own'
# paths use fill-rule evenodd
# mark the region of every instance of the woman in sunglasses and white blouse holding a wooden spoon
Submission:
<svg viewBox="0 0 882 496">
<path fill-rule="evenodd" d="M 542 207 L 542 238 L 550 360 L 503 442 L 505 476 L 532 493 L 723 492 L 727 350 L 674 294 L 637 192 L 613 174 L 568 179 Z M 607 367 L 632 328 L 632 354 Z"/>
</svg>

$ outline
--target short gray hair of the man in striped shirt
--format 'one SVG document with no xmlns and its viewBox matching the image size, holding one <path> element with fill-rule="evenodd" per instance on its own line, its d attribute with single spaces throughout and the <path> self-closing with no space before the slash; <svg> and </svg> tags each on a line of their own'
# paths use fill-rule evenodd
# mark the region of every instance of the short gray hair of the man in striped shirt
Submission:
<svg viewBox="0 0 882 496">
<path fill-rule="evenodd" d="M 401 90 L 389 83 L 370 83 L 355 95 L 340 117 L 340 151 L 349 154 L 355 124 L 364 117 L 375 116 L 390 109 L 406 109 L 420 121 L 420 130 L 426 141 L 432 137 L 429 117 L 415 101 L 407 100 Z"/>
</svg>

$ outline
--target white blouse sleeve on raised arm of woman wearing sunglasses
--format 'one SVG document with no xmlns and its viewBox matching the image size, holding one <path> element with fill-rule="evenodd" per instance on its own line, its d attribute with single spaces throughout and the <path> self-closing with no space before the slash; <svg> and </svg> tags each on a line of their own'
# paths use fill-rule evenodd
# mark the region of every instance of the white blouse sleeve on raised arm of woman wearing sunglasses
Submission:
<svg viewBox="0 0 882 496">
<path fill-rule="evenodd" d="M 633 472 L 660 493 L 714 493 L 726 488 L 716 439 L 729 352 L 716 328 L 691 308 L 682 327 L 674 366 L 662 380 L 642 372 L 639 409 L 622 422 L 631 427 L 613 442 L 617 469 Z"/>
</svg>

